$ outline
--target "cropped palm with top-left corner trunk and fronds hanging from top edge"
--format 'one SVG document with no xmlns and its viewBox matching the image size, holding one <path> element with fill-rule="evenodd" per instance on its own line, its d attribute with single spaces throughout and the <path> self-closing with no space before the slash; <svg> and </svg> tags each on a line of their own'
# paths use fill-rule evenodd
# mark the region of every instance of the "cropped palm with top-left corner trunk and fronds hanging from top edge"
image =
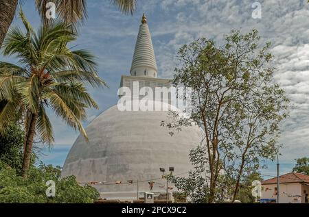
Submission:
<svg viewBox="0 0 309 217">
<path fill-rule="evenodd" d="M 87 1 L 86 0 L 35 0 L 36 9 L 40 13 L 44 23 L 48 23 L 45 16 L 46 3 L 52 1 L 56 4 L 59 18 L 65 23 L 75 24 L 87 17 Z M 119 10 L 125 14 L 133 14 L 136 8 L 137 0 L 111 0 Z M 18 0 L 0 0 L 0 47 L 5 38 L 5 34 L 13 21 L 17 8 Z"/>
</svg>

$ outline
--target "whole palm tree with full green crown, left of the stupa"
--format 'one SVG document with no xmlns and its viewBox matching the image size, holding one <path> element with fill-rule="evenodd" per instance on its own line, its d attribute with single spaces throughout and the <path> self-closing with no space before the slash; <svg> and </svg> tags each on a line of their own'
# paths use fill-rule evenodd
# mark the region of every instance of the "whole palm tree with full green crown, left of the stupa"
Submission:
<svg viewBox="0 0 309 217">
<path fill-rule="evenodd" d="M 54 110 L 87 140 L 81 121 L 87 119 L 87 108 L 98 109 L 98 105 L 86 87 L 106 84 L 98 77 L 89 51 L 67 47 L 77 37 L 71 25 L 54 22 L 34 32 L 22 10 L 19 16 L 26 33 L 12 27 L 3 42 L 3 55 L 16 55 L 20 65 L 0 62 L 0 132 L 16 116 L 25 120 L 21 175 L 26 177 L 34 136 L 47 145 L 54 142 L 46 109 Z"/>
</svg>

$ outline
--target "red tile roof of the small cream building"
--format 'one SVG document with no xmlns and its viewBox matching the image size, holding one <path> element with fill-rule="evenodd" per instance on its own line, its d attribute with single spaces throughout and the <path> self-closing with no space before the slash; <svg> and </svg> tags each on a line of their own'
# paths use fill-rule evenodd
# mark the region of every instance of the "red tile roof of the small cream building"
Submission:
<svg viewBox="0 0 309 217">
<path fill-rule="evenodd" d="M 262 181 L 262 185 L 277 183 L 277 177 Z M 309 183 L 309 176 L 301 173 L 287 173 L 279 176 L 279 183 Z"/>
</svg>

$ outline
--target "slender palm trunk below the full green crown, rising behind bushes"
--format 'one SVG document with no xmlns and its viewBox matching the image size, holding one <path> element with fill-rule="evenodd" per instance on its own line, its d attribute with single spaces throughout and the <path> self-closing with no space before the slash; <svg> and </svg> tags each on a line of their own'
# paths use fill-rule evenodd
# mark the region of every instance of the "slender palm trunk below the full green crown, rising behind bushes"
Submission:
<svg viewBox="0 0 309 217">
<path fill-rule="evenodd" d="M 23 153 L 23 167 L 21 168 L 21 176 L 23 178 L 27 177 L 27 172 L 30 167 L 31 155 L 32 155 L 32 146 L 34 140 L 34 134 L 36 131 L 36 117 L 37 114 L 32 114 L 29 129 L 27 131 L 27 136 L 25 138 L 25 151 Z"/>
</svg>

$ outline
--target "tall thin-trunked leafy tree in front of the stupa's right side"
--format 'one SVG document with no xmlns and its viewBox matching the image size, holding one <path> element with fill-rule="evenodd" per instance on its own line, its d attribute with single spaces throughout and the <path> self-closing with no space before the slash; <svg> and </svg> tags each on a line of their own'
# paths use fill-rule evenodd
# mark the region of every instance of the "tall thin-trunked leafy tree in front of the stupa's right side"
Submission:
<svg viewBox="0 0 309 217">
<path fill-rule="evenodd" d="M 273 81 L 271 44 L 258 31 L 231 31 L 225 43 L 201 38 L 179 50 L 174 86 L 192 88 L 192 115 L 163 123 L 171 131 L 197 124 L 205 133 L 209 167 L 209 203 L 216 199 L 222 170 L 235 179 L 233 201 L 243 174 L 277 153 L 279 124 L 287 116 L 288 99 Z M 181 97 L 181 96 L 180 96 Z"/>
</svg>

